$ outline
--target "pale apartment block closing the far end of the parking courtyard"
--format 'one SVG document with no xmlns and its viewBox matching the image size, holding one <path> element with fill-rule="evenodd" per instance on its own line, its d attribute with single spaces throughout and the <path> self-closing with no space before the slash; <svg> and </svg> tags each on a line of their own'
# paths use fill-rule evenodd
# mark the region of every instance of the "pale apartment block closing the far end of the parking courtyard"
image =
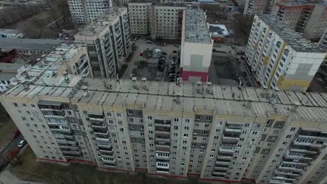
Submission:
<svg viewBox="0 0 327 184">
<path fill-rule="evenodd" d="M 151 34 L 152 39 L 180 39 L 185 6 L 156 3 L 129 3 L 131 33 Z"/>
</svg>

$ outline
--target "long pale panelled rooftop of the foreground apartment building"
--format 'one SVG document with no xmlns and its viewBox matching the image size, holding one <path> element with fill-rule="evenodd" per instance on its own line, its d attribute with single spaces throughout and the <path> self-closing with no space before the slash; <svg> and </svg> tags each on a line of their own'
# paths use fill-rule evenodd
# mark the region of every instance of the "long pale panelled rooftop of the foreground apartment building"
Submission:
<svg viewBox="0 0 327 184">
<path fill-rule="evenodd" d="M 85 90 L 89 95 L 85 95 Z M 298 121 L 327 121 L 327 93 L 275 91 L 238 86 L 175 84 L 169 82 L 115 79 L 41 77 L 29 90 L 16 84 L 3 98 L 71 98 L 74 103 L 102 106 L 129 105 L 167 112 L 208 112 L 234 116 L 267 117 L 270 114 L 291 116 Z M 58 97 L 58 98 L 57 98 Z M 101 97 L 101 98 L 100 98 Z M 55 100 L 54 100 L 55 101 Z M 292 109 L 298 106 L 297 109 Z"/>
</svg>

